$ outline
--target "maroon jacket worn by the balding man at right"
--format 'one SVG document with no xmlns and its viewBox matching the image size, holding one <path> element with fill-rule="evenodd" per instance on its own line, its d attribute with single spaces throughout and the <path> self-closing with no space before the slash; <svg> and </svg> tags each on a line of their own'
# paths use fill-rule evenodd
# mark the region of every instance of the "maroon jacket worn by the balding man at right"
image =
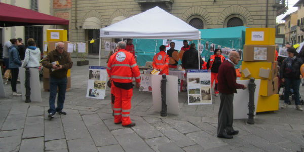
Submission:
<svg viewBox="0 0 304 152">
<path fill-rule="evenodd" d="M 228 60 L 220 64 L 218 68 L 217 82 L 217 90 L 224 94 L 237 93 L 236 89 L 244 88 L 244 85 L 237 84 L 236 69 Z"/>
</svg>

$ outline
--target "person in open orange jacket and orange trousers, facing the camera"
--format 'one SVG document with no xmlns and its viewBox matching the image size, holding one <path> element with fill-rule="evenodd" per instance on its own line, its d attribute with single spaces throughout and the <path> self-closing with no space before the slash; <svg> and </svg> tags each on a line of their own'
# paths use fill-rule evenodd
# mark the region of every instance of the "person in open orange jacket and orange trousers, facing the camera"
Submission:
<svg viewBox="0 0 304 152">
<path fill-rule="evenodd" d="M 225 60 L 225 57 L 221 55 L 219 49 L 214 50 L 214 55 L 210 56 L 210 59 L 207 62 L 207 69 L 211 69 L 211 87 L 213 87 L 213 81 L 215 81 L 214 93 L 215 96 L 218 96 L 217 91 L 217 74 L 219 65 Z"/>
</svg>

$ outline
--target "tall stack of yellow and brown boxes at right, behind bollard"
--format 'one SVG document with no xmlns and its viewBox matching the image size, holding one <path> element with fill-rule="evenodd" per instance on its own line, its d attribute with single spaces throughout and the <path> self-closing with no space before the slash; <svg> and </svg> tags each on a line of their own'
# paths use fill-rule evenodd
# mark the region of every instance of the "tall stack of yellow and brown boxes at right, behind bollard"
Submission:
<svg viewBox="0 0 304 152">
<path fill-rule="evenodd" d="M 275 28 L 246 28 L 241 80 L 261 80 L 256 112 L 279 109 L 275 51 Z"/>
</svg>

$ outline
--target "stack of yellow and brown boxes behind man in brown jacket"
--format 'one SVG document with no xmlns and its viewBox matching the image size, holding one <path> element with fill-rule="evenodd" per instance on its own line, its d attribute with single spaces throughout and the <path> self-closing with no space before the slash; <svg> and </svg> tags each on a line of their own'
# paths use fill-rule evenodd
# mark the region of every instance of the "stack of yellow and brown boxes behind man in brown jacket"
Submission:
<svg viewBox="0 0 304 152">
<path fill-rule="evenodd" d="M 45 55 L 47 55 L 50 51 L 53 51 L 56 49 L 56 45 L 58 42 L 64 43 L 64 50 L 67 51 L 67 44 L 70 43 L 67 41 L 67 31 L 64 29 L 47 29 L 47 42 L 44 44 L 48 44 L 48 48 L 44 49 L 47 50 L 44 52 Z M 46 45 L 44 46 L 46 47 Z M 66 90 L 68 91 L 71 88 L 71 71 L 68 69 L 67 74 L 67 85 Z M 49 69 L 44 67 L 43 70 L 43 88 L 45 91 L 50 90 L 49 86 L 49 80 L 50 80 L 50 73 Z"/>
</svg>

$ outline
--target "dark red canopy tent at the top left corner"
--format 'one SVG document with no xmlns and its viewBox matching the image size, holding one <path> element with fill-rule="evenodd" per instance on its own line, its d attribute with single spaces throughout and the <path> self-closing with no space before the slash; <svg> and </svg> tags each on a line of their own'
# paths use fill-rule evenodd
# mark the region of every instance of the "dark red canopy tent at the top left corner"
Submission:
<svg viewBox="0 0 304 152">
<path fill-rule="evenodd" d="M 69 20 L 0 3 L 0 27 L 24 25 L 68 25 Z"/>
</svg>

